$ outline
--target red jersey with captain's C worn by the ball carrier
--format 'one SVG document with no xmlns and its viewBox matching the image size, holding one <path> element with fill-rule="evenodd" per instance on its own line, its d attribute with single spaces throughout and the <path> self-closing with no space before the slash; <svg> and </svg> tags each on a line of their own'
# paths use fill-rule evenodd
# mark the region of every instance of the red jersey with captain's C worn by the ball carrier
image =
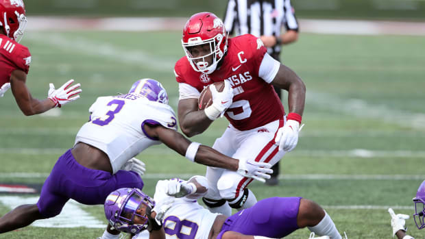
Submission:
<svg viewBox="0 0 425 239">
<path fill-rule="evenodd" d="M 228 79 L 234 91 L 233 103 L 224 114 L 239 130 L 254 129 L 283 118 L 283 105 L 273 86 L 258 76 L 267 48 L 251 34 L 228 40 L 223 64 L 207 75 L 194 71 L 186 57 L 175 64 L 179 83 L 186 83 L 199 92 L 217 81 Z"/>
</svg>

